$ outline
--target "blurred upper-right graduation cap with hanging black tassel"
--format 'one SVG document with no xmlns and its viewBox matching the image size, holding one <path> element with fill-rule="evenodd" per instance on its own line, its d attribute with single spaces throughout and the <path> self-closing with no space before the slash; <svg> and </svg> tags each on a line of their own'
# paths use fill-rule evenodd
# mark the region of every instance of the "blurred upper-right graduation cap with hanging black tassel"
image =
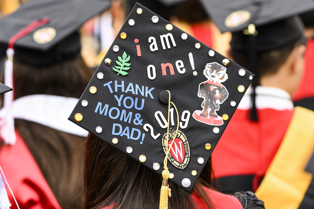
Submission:
<svg viewBox="0 0 314 209">
<path fill-rule="evenodd" d="M 220 31 L 232 32 L 232 53 L 246 52 L 249 69 L 256 77 L 252 81 L 251 120 L 257 121 L 255 87 L 259 85 L 257 53 L 293 46 L 303 37 L 300 13 L 312 10 L 312 0 L 200 0 Z"/>
</svg>

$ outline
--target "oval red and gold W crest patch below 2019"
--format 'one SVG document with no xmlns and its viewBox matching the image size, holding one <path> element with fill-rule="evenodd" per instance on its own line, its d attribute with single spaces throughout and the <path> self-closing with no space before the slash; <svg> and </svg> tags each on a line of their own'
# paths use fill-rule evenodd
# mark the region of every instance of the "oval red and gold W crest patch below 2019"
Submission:
<svg viewBox="0 0 314 209">
<path fill-rule="evenodd" d="M 173 137 L 174 132 L 176 130 L 174 128 L 169 128 L 169 135 L 170 138 Z M 164 150 L 164 153 L 166 153 L 166 145 L 167 145 L 167 132 L 164 133 L 161 143 L 162 143 L 162 148 Z M 189 162 L 190 162 L 190 145 L 187 140 L 187 137 L 185 134 L 181 131 L 178 130 L 177 137 L 174 139 L 175 142 L 172 144 L 170 148 L 170 153 L 168 155 L 168 160 L 169 162 L 176 167 L 177 169 L 184 170 Z M 168 142 L 168 147 L 171 144 L 172 140 L 169 140 Z"/>
</svg>

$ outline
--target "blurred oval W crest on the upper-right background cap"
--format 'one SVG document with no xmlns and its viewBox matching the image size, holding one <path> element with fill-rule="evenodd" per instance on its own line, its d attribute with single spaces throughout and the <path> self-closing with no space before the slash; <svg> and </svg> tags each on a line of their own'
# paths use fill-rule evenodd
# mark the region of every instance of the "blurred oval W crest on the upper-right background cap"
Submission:
<svg viewBox="0 0 314 209">
<path fill-rule="evenodd" d="M 225 26 L 234 28 L 246 23 L 251 18 L 251 13 L 246 10 L 238 10 L 229 14 L 225 19 Z"/>
</svg>

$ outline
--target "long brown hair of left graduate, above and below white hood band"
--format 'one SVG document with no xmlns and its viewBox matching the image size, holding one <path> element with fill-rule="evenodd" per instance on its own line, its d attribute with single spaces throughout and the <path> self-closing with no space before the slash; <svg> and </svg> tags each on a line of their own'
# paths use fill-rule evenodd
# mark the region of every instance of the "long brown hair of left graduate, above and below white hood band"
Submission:
<svg viewBox="0 0 314 209">
<path fill-rule="evenodd" d="M 52 94 L 79 98 L 91 77 L 92 72 L 82 58 L 45 67 L 14 63 L 14 97 Z M 62 209 L 81 208 L 82 144 L 86 138 L 19 119 L 15 119 L 15 127 Z"/>
</svg>

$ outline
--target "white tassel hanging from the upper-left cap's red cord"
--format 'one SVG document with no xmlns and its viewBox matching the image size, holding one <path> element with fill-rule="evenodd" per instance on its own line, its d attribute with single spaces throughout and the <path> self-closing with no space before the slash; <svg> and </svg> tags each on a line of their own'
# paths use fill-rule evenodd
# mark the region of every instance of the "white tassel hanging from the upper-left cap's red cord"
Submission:
<svg viewBox="0 0 314 209">
<path fill-rule="evenodd" d="M 4 84 L 13 89 L 13 56 L 14 49 L 8 48 L 7 61 L 4 68 Z M 5 144 L 14 145 L 16 143 L 16 135 L 14 129 L 13 117 L 13 100 L 14 90 L 4 94 L 5 116 L 1 121 L 0 136 L 4 139 Z"/>
</svg>

